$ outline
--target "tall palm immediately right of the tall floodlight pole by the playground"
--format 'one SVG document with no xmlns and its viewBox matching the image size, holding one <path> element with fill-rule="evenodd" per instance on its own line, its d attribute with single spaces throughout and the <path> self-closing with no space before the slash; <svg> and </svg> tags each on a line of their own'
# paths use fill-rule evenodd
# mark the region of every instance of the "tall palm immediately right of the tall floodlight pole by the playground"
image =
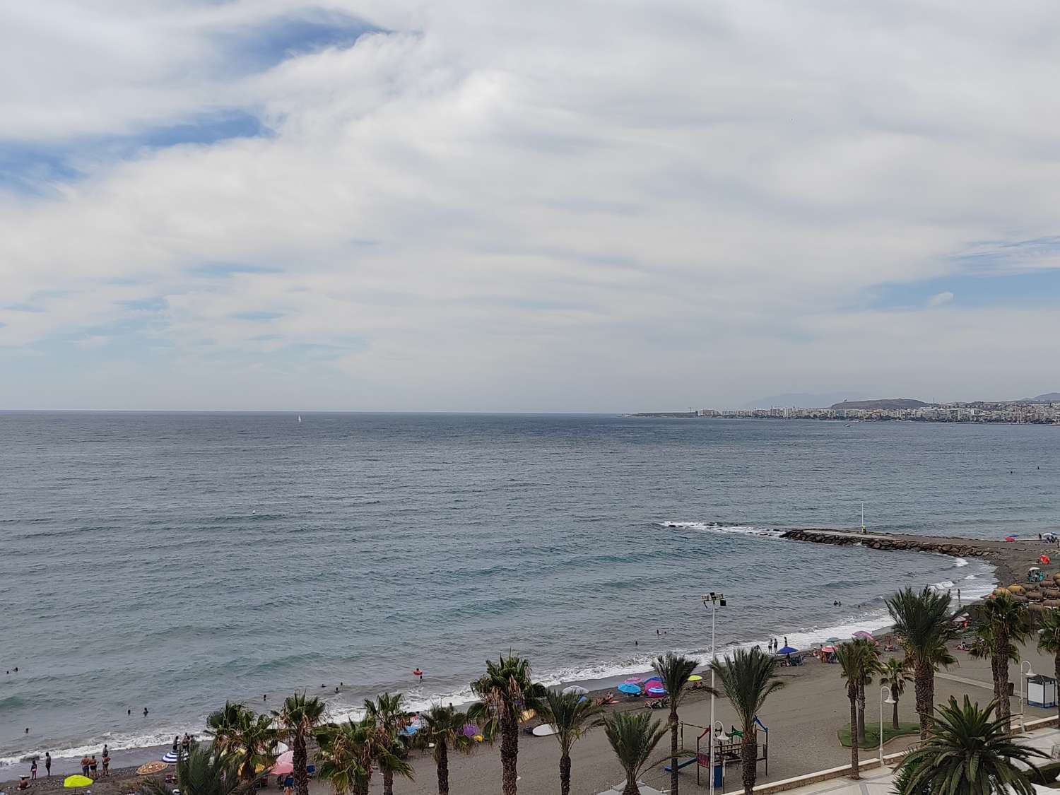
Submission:
<svg viewBox="0 0 1060 795">
<path fill-rule="evenodd" d="M 711 670 L 722 683 L 729 704 L 740 719 L 743 740 L 740 741 L 740 772 L 744 795 L 752 795 L 758 778 L 758 730 L 755 719 L 766 696 L 784 686 L 776 677 L 777 658 L 759 648 L 737 649 L 731 659 L 714 660 Z M 676 771 L 676 764 L 674 771 Z"/>
</svg>

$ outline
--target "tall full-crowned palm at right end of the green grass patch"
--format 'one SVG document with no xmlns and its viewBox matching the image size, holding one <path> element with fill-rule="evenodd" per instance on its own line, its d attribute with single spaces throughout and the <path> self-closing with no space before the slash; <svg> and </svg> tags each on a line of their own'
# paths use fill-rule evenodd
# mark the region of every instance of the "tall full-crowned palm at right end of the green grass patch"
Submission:
<svg viewBox="0 0 1060 795">
<path fill-rule="evenodd" d="M 935 705 L 935 671 L 956 662 L 946 648 L 956 631 L 950 619 L 950 595 L 924 587 L 919 594 L 903 588 L 887 600 L 895 633 L 913 669 L 920 739 L 926 739 Z"/>
</svg>

